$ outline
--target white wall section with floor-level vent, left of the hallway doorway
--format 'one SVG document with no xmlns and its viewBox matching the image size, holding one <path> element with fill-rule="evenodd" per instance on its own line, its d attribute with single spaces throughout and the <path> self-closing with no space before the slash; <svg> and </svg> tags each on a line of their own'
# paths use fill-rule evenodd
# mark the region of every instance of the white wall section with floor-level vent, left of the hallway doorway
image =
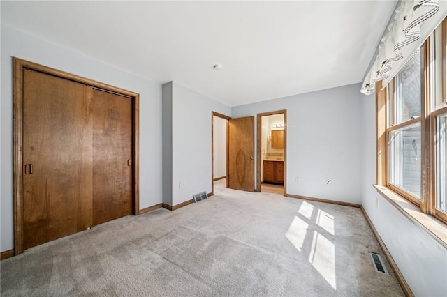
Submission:
<svg viewBox="0 0 447 297">
<path fill-rule="evenodd" d="M 173 206 L 212 190 L 212 112 L 231 116 L 230 107 L 173 82 Z"/>
</svg>

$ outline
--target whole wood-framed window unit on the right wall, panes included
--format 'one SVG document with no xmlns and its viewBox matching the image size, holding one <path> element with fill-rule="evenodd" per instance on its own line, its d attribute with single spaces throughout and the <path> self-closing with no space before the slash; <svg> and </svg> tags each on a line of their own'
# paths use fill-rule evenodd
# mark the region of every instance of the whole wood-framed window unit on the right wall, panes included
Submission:
<svg viewBox="0 0 447 297">
<path fill-rule="evenodd" d="M 447 223 L 446 40 L 447 19 L 376 98 L 377 183 Z"/>
</svg>

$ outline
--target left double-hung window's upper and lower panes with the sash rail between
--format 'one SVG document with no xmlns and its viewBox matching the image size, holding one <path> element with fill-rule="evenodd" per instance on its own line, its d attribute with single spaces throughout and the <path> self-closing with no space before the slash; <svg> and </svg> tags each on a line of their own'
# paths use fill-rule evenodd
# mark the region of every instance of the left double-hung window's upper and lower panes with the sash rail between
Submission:
<svg viewBox="0 0 447 297">
<path fill-rule="evenodd" d="M 388 92 L 388 183 L 414 202 L 420 200 L 420 52 L 406 64 Z"/>
</svg>

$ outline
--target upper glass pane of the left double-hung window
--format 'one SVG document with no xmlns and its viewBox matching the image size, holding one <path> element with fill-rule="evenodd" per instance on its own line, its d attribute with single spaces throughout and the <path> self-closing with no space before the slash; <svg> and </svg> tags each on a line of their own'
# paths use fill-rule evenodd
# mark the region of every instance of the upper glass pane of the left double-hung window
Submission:
<svg viewBox="0 0 447 297">
<path fill-rule="evenodd" d="M 394 107 L 395 124 L 420 116 L 420 52 L 396 75 Z"/>
</svg>

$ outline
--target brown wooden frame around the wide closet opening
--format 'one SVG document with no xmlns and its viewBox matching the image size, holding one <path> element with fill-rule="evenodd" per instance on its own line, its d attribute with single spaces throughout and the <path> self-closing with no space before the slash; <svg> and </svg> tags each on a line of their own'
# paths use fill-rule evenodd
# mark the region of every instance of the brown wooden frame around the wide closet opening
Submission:
<svg viewBox="0 0 447 297">
<path fill-rule="evenodd" d="M 133 215 L 140 213 L 139 132 L 140 95 L 138 93 L 96 82 L 37 63 L 13 57 L 13 206 L 14 255 L 23 252 L 23 69 L 30 69 L 93 86 L 104 91 L 130 97 L 132 100 L 132 205 Z"/>
</svg>

